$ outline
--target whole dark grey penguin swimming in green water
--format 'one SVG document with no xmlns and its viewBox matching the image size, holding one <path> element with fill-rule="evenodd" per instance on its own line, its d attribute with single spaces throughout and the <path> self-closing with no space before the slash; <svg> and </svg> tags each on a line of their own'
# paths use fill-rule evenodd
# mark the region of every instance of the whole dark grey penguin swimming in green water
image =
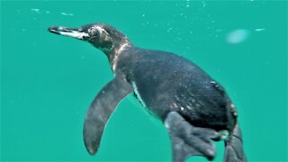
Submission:
<svg viewBox="0 0 288 162">
<path fill-rule="evenodd" d="M 96 95 L 85 116 L 85 148 L 93 155 L 117 104 L 134 92 L 163 121 L 173 161 L 215 157 L 213 140 L 225 139 L 224 161 L 246 161 L 237 111 L 224 88 L 200 67 L 173 53 L 140 49 L 105 23 L 80 28 L 52 26 L 50 32 L 85 40 L 107 56 L 115 77 Z"/>
</svg>

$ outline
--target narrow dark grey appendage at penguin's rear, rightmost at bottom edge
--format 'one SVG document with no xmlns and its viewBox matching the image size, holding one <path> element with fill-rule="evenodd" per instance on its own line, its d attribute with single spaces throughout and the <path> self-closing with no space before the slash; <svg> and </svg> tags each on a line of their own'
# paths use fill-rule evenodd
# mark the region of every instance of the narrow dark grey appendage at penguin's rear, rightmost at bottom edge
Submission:
<svg viewBox="0 0 288 162">
<path fill-rule="evenodd" d="M 236 124 L 229 139 L 225 141 L 225 162 L 246 162 L 247 158 L 243 149 L 241 130 Z"/>
</svg>

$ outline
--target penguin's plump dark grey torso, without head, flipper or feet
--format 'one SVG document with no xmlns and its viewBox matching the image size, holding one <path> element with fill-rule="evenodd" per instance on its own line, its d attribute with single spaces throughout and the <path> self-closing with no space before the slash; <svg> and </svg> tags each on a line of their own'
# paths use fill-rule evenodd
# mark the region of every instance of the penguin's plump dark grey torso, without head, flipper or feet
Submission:
<svg viewBox="0 0 288 162">
<path fill-rule="evenodd" d="M 148 111 L 162 120 L 168 112 L 179 112 L 195 126 L 232 129 L 234 121 L 230 121 L 234 117 L 229 110 L 229 98 L 202 69 L 169 54 L 156 55 L 155 59 L 145 57 L 149 59 L 143 58 L 133 68 L 132 85 Z"/>
</svg>

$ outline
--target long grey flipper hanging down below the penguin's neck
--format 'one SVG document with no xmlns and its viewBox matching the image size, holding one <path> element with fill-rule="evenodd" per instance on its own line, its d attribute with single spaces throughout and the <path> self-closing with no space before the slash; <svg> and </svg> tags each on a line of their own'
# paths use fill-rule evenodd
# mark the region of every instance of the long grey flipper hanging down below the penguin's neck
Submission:
<svg viewBox="0 0 288 162">
<path fill-rule="evenodd" d="M 132 90 L 124 76 L 116 76 L 94 98 L 86 112 L 83 130 L 85 148 L 91 155 L 99 148 L 105 125 L 117 104 Z"/>
</svg>

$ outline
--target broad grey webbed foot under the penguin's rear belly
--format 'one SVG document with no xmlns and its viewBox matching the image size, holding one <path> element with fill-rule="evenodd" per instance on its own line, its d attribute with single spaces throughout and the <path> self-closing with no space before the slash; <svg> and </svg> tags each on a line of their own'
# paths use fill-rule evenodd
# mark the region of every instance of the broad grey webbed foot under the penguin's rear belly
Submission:
<svg viewBox="0 0 288 162">
<path fill-rule="evenodd" d="M 174 162 L 184 162 L 189 156 L 203 156 L 209 160 L 215 156 L 212 139 L 219 140 L 220 135 L 217 131 L 194 127 L 178 112 L 167 114 L 165 126 L 172 140 Z"/>
</svg>

